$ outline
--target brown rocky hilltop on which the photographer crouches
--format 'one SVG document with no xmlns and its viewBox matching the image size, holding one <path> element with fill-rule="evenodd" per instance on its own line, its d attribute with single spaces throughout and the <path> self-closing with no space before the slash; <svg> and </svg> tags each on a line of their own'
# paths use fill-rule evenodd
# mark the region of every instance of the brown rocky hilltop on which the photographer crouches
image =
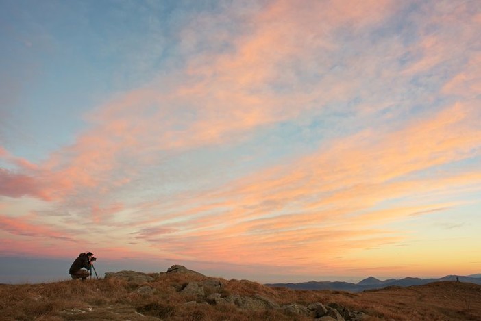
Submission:
<svg viewBox="0 0 481 321">
<path fill-rule="evenodd" d="M 172 266 L 84 282 L 0 285 L 0 309 L 2 320 L 479 320 L 481 285 L 299 291 Z"/>
</svg>

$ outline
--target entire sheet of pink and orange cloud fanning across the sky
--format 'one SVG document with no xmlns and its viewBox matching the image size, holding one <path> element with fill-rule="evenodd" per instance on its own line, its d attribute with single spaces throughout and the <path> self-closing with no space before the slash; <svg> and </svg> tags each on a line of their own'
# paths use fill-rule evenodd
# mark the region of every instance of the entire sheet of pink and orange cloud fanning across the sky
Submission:
<svg viewBox="0 0 481 321">
<path fill-rule="evenodd" d="M 468 7 L 203 12 L 179 31 L 183 63 L 88 112 L 73 144 L 39 164 L 0 148 L 16 166 L 0 171 L 0 194 L 50 201 L 40 216 L 73 220 L 106 253 L 369 266 L 356 255 L 410 240 L 406 223 L 480 189 L 479 18 Z M 10 236 L 77 232 L 1 222 Z"/>
</svg>

